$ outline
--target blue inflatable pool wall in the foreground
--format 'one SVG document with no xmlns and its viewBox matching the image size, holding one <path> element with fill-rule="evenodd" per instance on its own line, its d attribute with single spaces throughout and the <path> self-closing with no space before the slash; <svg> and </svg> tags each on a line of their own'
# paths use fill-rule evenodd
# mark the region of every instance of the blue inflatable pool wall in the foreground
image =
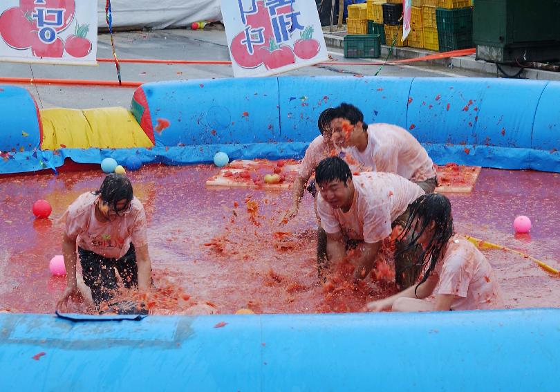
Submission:
<svg viewBox="0 0 560 392">
<path fill-rule="evenodd" d="M 559 309 L 82 323 L 4 314 L 0 390 L 556 392 L 559 326 Z"/>
</svg>

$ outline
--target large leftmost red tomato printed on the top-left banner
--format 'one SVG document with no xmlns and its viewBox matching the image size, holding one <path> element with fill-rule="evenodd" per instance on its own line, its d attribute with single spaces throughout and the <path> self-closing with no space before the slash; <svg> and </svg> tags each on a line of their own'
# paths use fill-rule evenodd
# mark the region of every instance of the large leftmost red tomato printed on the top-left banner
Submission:
<svg viewBox="0 0 560 392">
<path fill-rule="evenodd" d="M 29 48 L 37 35 L 34 31 L 37 28 L 28 17 L 19 7 L 9 8 L 0 15 L 0 35 L 12 48 Z"/>
</svg>

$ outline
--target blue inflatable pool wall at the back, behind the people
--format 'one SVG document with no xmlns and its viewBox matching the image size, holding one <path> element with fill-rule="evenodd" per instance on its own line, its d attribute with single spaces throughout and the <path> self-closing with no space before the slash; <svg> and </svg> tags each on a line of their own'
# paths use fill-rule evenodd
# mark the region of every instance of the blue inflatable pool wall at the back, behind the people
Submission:
<svg viewBox="0 0 560 392">
<path fill-rule="evenodd" d="M 560 82 L 477 78 L 268 77 L 144 84 L 155 147 L 41 151 L 35 104 L 23 88 L 3 86 L 0 174 L 59 167 L 69 157 L 98 163 L 136 154 L 144 163 L 212 162 L 230 158 L 300 158 L 319 134 L 321 111 L 351 102 L 364 120 L 398 124 L 439 164 L 560 172 Z M 142 109 L 142 110 L 140 110 Z M 14 110 L 17 116 L 12 115 Z M 137 117 L 138 117 L 137 116 Z M 140 118 L 137 118 L 140 122 Z M 157 130 L 160 120 L 169 127 Z M 142 124 L 145 126 L 145 124 Z M 29 134 L 22 139 L 22 129 Z M 155 131 L 154 131 L 155 130 Z M 21 143 L 24 151 L 20 152 Z M 18 147 L 18 148 L 16 148 Z M 32 149 L 28 151 L 28 149 Z"/>
</svg>

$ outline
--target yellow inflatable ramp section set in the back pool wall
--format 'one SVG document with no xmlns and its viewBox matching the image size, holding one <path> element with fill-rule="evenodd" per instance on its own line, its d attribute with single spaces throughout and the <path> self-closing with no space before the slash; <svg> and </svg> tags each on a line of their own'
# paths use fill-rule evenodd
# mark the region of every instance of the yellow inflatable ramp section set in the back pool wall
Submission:
<svg viewBox="0 0 560 392">
<path fill-rule="evenodd" d="M 41 109 L 41 149 L 127 149 L 153 147 L 132 113 L 124 107 Z"/>
</svg>

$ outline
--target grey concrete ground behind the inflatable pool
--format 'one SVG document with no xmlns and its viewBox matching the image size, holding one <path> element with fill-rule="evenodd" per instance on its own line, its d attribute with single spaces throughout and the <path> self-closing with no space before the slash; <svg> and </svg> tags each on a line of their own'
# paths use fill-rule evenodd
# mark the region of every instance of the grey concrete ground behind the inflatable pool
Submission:
<svg viewBox="0 0 560 392">
<path fill-rule="evenodd" d="M 229 60 L 227 40 L 223 30 L 156 30 L 117 32 L 115 45 L 119 59 L 187 59 Z M 333 59 L 344 61 L 340 48 L 330 48 Z M 112 57 L 108 34 L 100 34 L 97 57 Z M 352 59 L 363 65 L 309 66 L 281 75 L 373 75 L 380 66 L 366 59 Z M 379 61 L 375 59 L 375 62 Z M 156 82 L 160 80 L 187 80 L 233 77 L 230 65 L 184 65 L 184 64 L 121 64 L 122 80 Z M 115 64 L 99 63 L 98 66 L 56 66 L 42 64 L 0 63 L 2 77 L 34 77 L 48 79 L 117 80 Z M 442 64 L 413 63 L 400 66 L 384 66 L 380 76 L 413 77 L 492 77 L 488 73 L 449 68 Z M 125 106 L 131 102 L 133 88 L 89 86 L 26 86 L 35 96 L 39 108 L 68 107 L 88 109 L 104 106 Z"/>
</svg>

